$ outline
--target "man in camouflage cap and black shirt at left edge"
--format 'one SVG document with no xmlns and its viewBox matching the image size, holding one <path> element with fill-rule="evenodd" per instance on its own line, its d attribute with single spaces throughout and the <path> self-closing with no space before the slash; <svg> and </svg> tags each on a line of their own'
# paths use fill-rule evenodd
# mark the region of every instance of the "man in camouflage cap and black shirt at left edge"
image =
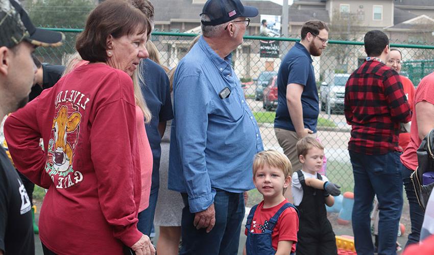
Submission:
<svg viewBox="0 0 434 255">
<path fill-rule="evenodd" d="M 13 0 L 0 0 L 0 120 L 26 105 L 37 46 L 59 46 L 64 35 L 37 29 Z M 5 149 L 0 147 L 0 255 L 34 254 L 31 203 Z"/>
</svg>

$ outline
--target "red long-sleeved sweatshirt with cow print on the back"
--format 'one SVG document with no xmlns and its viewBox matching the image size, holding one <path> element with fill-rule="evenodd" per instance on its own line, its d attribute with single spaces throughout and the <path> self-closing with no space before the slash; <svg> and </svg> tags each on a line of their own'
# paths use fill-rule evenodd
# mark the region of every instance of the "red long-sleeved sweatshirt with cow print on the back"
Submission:
<svg viewBox="0 0 434 255">
<path fill-rule="evenodd" d="M 7 119 L 15 166 L 49 188 L 39 218 L 47 248 L 122 254 L 140 239 L 135 123 L 131 78 L 105 64 L 78 67 Z"/>
</svg>

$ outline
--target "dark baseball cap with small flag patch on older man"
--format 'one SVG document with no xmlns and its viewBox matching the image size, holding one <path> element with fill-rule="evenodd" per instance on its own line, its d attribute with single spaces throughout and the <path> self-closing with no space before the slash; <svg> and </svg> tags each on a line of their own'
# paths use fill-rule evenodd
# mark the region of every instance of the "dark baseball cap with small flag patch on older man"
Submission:
<svg viewBox="0 0 434 255">
<path fill-rule="evenodd" d="M 239 0 L 208 0 L 202 9 L 202 14 L 208 15 L 210 21 L 201 21 L 204 25 L 220 25 L 237 17 L 256 17 L 258 9 L 243 6 Z"/>
</svg>

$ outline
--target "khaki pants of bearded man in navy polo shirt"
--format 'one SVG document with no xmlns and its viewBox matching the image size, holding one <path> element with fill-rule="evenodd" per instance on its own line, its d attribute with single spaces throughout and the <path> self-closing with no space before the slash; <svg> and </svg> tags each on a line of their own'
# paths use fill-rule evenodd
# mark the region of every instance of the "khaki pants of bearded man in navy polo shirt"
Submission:
<svg viewBox="0 0 434 255">
<path fill-rule="evenodd" d="M 289 131 L 284 129 L 278 129 L 277 127 L 274 128 L 274 133 L 276 134 L 277 141 L 279 142 L 280 147 L 283 149 L 283 153 L 288 157 L 288 159 L 291 161 L 291 165 L 293 166 L 293 172 L 296 172 L 298 170 L 301 170 L 301 163 L 298 160 L 297 155 L 297 142 L 298 137 L 297 133 L 295 131 Z M 308 136 L 317 137 L 317 133 L 315 134 L 308 134 Z M 292 201 L 292 195 L 291 195 L 291 186 L 288 187 L 288 189 L 285 192 L 285 197 L 290 199 Z"/>
</svg>

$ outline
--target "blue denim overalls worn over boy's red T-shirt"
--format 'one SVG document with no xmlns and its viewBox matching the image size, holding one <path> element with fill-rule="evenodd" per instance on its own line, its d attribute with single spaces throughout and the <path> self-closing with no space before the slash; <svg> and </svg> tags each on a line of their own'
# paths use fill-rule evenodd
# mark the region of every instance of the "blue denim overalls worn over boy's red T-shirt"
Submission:
<svg viewBox="0 0 434 255">
<path fill-rule="evenodd" d="M 271 241 L 271 233 L 273 233 L 273 228 L 277 224 L 277 220 L 279 219 L 282 212 L 289 207 L 292 207 L 296 210 L 298 215 L 298 210 L 292 203 L 285 203 L 279 211 L 269 220 L 269 225 L 267 226 L 264 233 L 255 234 L 250 232 L 250 226 L 252 224 L 253 215 L 255 214 L 256 208 L 258 205 L 252 207 L 250 210 L 249 216 L 247 217 L 246 228 L 247 228 L 247 242 L 246 242 L 246 251 L 247 255 L 274 255 L 276 254 L 276 250 L 273 248 Z M 294 253 L 291 253 L 294 254 Z"/>
</svg>

